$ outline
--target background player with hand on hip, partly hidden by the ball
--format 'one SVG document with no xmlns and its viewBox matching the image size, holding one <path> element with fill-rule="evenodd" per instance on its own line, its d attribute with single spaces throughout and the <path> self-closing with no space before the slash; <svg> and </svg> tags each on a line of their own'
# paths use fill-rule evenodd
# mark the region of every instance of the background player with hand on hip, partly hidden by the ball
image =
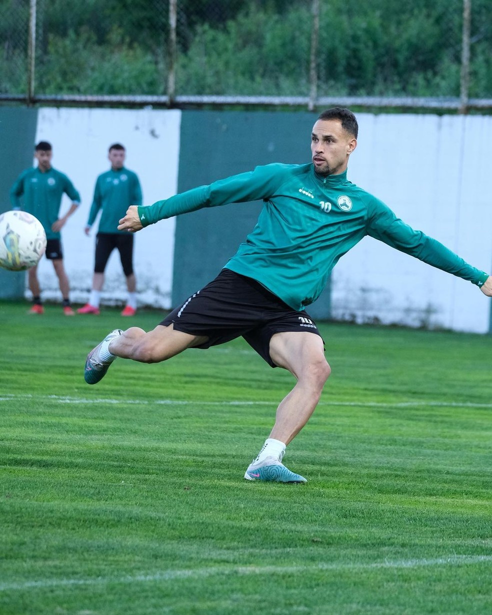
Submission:
<svg viewBox="0 0 492 615">
<path fill-rule="evenodd" d="M 34 157 L 38 161 L 38 166 L 33 169 L 26 169 L 15 180 L 12 189 L 10 189 L 10 202 L 12 202 L 12 208 L 20 209 L 22 208 L 21 197 L 23 197 L 25 211 L 36 216 L 44 227 L 47 239 L 46 258 L 53 263 L 55 274 L 58 277 L 58 285 L 62 291 L 63 312 L 66 316 L 73 316 L 75 312 L 69 300 L 70 287 L 63 264 L 60 231 L 65 226 L 69 216 L 79 206 L 81 196 L 68 177 L 52 167 L 53 149 L 50 143 L 40 141 L 34 149 Z M 60 206 L 64 192 L 72 200 L 72 204 L 68 212 L 60 218 Z M 33 293 L 33 306 L 30 313 L 43 314 L 38 265 L 28 270 L 28 283 L 31 293 Z"/>
</svg>

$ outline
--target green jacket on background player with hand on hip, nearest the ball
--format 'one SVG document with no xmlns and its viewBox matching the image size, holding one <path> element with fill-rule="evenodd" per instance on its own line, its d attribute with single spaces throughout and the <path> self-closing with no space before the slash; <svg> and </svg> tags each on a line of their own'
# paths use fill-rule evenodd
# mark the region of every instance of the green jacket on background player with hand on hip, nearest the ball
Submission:
<svg viewBox="0 0 492 615">
<path fill-rule="evenodd" d="M 79 192 L 65 173 L 53 167 L 43 173 L 39 167 L 34 167 L 23 171 L 15 180 L 10 189 L 10 202 L 14 209 L 23 208 L 36 216 L 44 227 L 47 239 L 60 239 L 60 232 L 52 231 L 51 226 L 60 215 L 63 192 L 73 203 L 78 205 L 81 202 Z"/>
</svg>

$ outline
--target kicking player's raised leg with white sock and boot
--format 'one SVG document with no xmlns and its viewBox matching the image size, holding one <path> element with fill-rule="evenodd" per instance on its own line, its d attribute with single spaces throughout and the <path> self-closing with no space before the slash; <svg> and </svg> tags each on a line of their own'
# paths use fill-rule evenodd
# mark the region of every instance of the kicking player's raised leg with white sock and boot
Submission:
<svg viewBox="0 0 492 615">
<path fill-rule="evenodd" d="M 159 363 L 205 341 L 205 336 L 175 331 L 173 325 L 157 325 L 148 332 L 139 327 L 130 327 L 126 331 L 115 329 L 87 355 L 84 379 L 87 384 L 98 383 L 116 357 Z"/>
</svg>

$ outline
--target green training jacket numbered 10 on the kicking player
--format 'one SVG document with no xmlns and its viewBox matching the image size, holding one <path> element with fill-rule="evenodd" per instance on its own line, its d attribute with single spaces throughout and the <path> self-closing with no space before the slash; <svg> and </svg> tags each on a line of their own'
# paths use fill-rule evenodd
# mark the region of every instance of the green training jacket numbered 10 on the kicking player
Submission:
<svg viewBox="0 0 492 615">
<path fill-rule="evenodd" d="M 415 231 L 381 200 L 312 164 L 269 164 L 139 207 L 143 226 L 202 207 L 263 199 L 253 231 L 225 267 L 258 280 L 293 309 L 322 292 L 331 269 L 369 235 L 481 286 L 488 277 L 437 240 Z"/>
</svg>

